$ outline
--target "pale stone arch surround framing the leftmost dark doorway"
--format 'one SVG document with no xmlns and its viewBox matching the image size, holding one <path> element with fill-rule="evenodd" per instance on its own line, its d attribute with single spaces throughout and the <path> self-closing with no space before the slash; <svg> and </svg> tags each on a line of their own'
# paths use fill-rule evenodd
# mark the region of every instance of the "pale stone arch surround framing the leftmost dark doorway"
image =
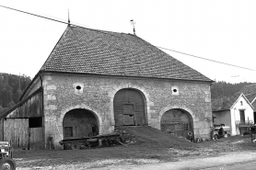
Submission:
<svg viewBox="0 0 256 170">
<path fill-rule="evenodd" d="M 70 112 L 72 110 L 75 110 L 75 109 L 84 109 L 85 111 L 87 111 L 87 112 L 91 113 L 92 115 L 94 115 L 94 117 L 95 117 L 95 119 L 97 121 L 97 124 L 98 124 L 99 134 L 102 133 L 102 131 L 103 131 L 102 130 L 102 128 L 103 128 L 102 124 L 103 123 L 102 123 L 102 118 L 100 117 L 99 113 L 96 110 L 94 110 L 94 109 L 92 109 L 92 108 L 82 104 L 82 105 L 76 105 L 76 106 L 64 108 L 62 110 L 60 119 L 58 120 L 58 122 L 59 122 L 58 127 L 60 127 L 59 130 L 60 130 L 60 133 L 63 134 L 63 136 L 64 136 L 64 130 L 63 130 L 63 127 L 64 127 L 64 116 L 66 115 L 66 113 L 68 113 L 68 112 Z"/>
</svg>

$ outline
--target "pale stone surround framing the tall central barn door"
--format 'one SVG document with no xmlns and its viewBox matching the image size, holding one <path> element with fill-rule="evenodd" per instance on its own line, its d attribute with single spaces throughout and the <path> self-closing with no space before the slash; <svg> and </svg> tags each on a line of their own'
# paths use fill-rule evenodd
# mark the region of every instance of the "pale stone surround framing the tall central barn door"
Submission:
<svg viewBox="0 0 256 170">
<path fill-rule="evenodd" d="M 146 119 L 146 123 L 149 125 L 151 124 L 151 115 L 150 112 L 148 112 L 150 106 L 154 106 L 154 104 L 152 102 L 150 102 L 149 100 L 149 94 L 146 93 L 146 90 L 143 86 L 139 86 L 139 85 L 132 85 L 132 84 L 123 84 L 123 85 L 118 85 L 118 86 L 113 86 L 113 90 L 109 93 L 109 96 L 111 97 L 111 125 L 115 125 L 115 120 L 114 120 L 114 96 L 116 95 L 116 93 L 122 89 L 125 88 L 131 88 L 134 90 L 139 91 L 142 96 L 144 96 L 145 98 L 145 119 Z"/>
</svg>

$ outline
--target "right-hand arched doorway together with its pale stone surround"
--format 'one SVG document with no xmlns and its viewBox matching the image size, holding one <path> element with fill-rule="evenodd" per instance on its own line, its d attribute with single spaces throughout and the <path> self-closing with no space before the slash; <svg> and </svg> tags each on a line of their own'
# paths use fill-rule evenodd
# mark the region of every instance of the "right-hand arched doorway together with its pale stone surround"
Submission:
<svg viewBox="0 0 256 170">
<path fill-rule="evenodd" d="M 194 116 L 192 110 L 186 107 L 169 106 L 159 112 L 159 130 L 175 132 L 179 136 L 187 137 L 187 133 L 194 134 Z"/>
</svg>

